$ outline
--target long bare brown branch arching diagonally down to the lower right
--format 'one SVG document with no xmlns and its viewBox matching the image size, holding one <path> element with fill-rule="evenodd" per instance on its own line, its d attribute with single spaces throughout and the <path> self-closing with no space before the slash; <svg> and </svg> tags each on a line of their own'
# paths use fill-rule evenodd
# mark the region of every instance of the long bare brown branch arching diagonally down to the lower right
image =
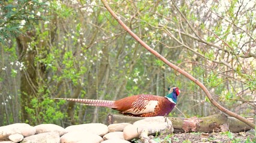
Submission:
<svg viewBox="0 0 256 143">
<path fill-rule="evenodd" d="M 213 100 L 212 95 L 210 95 L 210 92 L 207 90 L 207 88 L 203 85 L 203 83 L 199 82 L 197 79 L 195 79 L 195 77 L 191 76 L 189 73 L 187 73 L 186 71 L 180 69 L 179 67 L 177 67 L 176 65 L 174 65 L 173 63 L 171 63 L 170 61 L 168 61 L 166 58 L 162 57 L 161 54 L 159 54 L 158 52 L 156 52 L 154 49 L 150 48 L 149 45 L 147 45 L 145 42 L 143 42 L 140 38 L 138 38 L 137 35 L 135 35 L 135 33 L 133 33 L 131 31 L 131 29 L 129 29 L 128 26 L 126 26 L 124 24 L 124 22 L 118 17 L 118 15 L 115 14 L 115 12 L 109 7 L 109 4 L 107 4 L 106 0 L 101 0 L 101 2 L 103 2 L 104 6 L 107 8 L 107 10 L 109 11 L 109 13 L 116 19 L 116 21 L 118 21 L 118 23 L 129 33 L 129 35 L 132 36 L 132 38 L 134 38 L 136 41 L 138 41 L 138 43 L 140 43 L 141 46 L 143 46 L 144 48 L 147 49 L 147 51 L 151 52 L 153 55 L 155 55 L 157 58 L 159 58 L 159 60 L 163 61 L 165 64 L 167 64 L 169 67 L 171 67 L 172 69 L 178 71 L 179 73 L 183 74 L 183 76 L 187 77 L 188 79 L 192 80 L 192 82 L 194 82 L 195 84 L 197 84 L 198 86 L 200 86 L 201 89 L 203 89 L 204 93 L 206 94 L 207 98 L 209 98 L 209 101 L 215 105 L 215 107 L 217 107 L 219 110 L 223 111 L 224 113 L 228 114 L 229 116 L 235 117 L 236 119 L 239 119 L 240 121 L 246 123 L 247 125 L 251 126 L 251 128 L 256 128 L 255 124 L 252 122 L 249 122 L 249 120 L 245 119 L 244 117 L 240 116 L 239 114 L 233 113 L 230 110 L 227 110 L 226 108 L 222 107 L 220 104 L 218 104 L 218 102 L 216 102 L 215 100 Z"/>
</svg>

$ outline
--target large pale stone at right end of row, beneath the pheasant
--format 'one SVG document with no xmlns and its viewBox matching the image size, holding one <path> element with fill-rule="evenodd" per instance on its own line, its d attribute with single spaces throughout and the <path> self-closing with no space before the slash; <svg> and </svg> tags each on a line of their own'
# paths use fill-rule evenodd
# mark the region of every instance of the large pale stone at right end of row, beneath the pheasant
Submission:
<svg viewBox="0 0 256 143">
<path fill-rule="evenodd" d="M 138 120 L 133 123 L 134 126 L 141 129 L 146 129 L 149 135 L 154 135 L 156 132 L 161 133 L 173 133 L 173 124 L 171 120 L 163 116 L 147 117 L 143 120 Z"/>
</svg>

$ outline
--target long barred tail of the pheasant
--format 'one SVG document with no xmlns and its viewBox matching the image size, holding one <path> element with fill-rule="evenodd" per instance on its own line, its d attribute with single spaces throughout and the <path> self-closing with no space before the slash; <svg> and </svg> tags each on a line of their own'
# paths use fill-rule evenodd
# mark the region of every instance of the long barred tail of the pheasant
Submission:
<svg viewBox="0 0 256 143">
<path fill-rule="evenodd" d="M 76 99 L 76 98 L 52 98 L 55 100 L 67 100 L 73 102 L 79 102 L 84 105 L 91 105 L 91 106 L 101 106 L 101 107 L 115 107 L 115 101 L 110 100 L 87 100 L 87 99 Z"/>
</svg>

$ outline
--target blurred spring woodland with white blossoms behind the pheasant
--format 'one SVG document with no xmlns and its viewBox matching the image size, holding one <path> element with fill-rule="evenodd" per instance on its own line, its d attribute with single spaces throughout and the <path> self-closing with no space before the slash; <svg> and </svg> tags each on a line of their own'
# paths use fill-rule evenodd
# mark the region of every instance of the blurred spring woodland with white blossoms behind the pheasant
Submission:
<svg viewBox="0 0 256 143">
<path fill-rule="evenodd" d="M 109 1 L 144 42 L 206 85 L 221 105 L 256 117 L 254 1 Z M 118 100 L 181 93 L 173 117 L 221 112 L 150 54 L 101 1 L 0 2 L 0 126 L 104 122 L 108 108 L 50 97 Z"/>
</svg>

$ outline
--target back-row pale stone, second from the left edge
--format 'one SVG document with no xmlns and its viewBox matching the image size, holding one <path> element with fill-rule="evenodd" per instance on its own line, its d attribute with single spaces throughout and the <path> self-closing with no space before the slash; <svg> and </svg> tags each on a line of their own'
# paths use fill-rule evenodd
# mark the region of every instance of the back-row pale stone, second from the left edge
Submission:
<svg viewBox="0 0 256 143">
<path fill-rule="evenodd" d="M 34 126 L 34 128 L 36 130 L 36 134 L 45 132 L 58 132 L 59 136 L 62 136 L 64 133 L 66 133 L 64 128 L 55 124 L 41 124 Z"/>
</svg>

